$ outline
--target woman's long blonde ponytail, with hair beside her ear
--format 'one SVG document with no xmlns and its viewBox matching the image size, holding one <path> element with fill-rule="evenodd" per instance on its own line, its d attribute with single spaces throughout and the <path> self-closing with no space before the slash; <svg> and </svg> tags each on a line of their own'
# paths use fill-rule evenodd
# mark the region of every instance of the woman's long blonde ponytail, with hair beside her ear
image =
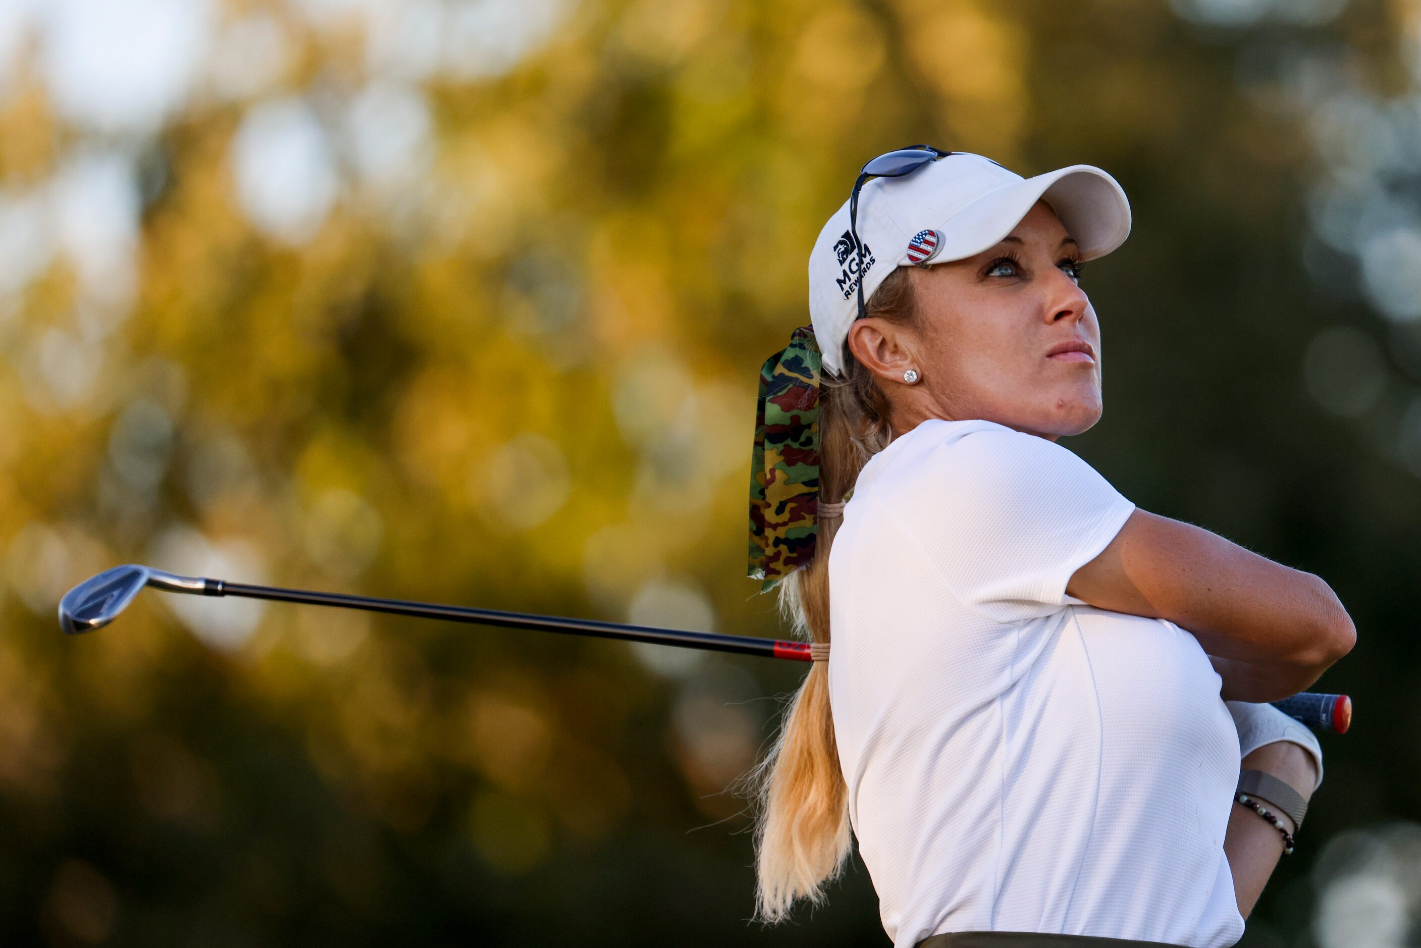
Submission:
<svg viewBox="0 0 1421 948">
<path fill-rule="evenodd" d="M 894 270 L 868 301 L 868 316 L 891 323 L 914 318 L 912 280 Z M 888 404 L 872 374 L 844 354 L 844 377 L 820 384 L 818 496 L 840 502 L 868 459 L 890 438 Z M 818 519 L 814 559 L 780 586 L 780 614 L 794 632 L 828 642 L 828 550 L 838 517 Z M 756 915 L 784 920 L 800 898 L 818 904 L 850 851 L 848 785 L 838 766 L 828 706 L 828 662 L 814 662 L 784 711 L 780 733 L 750 775 L 759 799 L 756 824 Z"/>
</svg>

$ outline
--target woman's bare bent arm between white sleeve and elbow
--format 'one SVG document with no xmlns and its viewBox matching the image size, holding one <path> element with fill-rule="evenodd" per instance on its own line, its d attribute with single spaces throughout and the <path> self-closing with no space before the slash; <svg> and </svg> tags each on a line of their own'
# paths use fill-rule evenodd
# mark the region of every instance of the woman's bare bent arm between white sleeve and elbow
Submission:
<svg viewBox="0 0 1421 948">
<path fill-rule="evenodd" d="M 1188 523 L 1135 510 L 1100 556 L 1076 570 L 1070 596 L 1098 608 L 1164 618 L 1223 659 L 1231 701 L 1304 691 L 1346 655 L 1357 632 L 1331 588 Z"/>
</svg>

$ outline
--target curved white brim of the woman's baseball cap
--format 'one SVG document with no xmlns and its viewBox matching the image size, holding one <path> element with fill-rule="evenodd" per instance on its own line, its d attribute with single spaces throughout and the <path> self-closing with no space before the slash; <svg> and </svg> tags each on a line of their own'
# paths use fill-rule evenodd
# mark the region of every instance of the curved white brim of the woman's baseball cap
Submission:
<svg viewBox="0 0 1421 948">
<path fill-rule="evenodd" d="M 1044 199 L 1076 240 L 1081 260 L 1103 257 L 1130 236 L 1130 200 L 1108 173 L 1070 165 L 998 188 L 952 215 L 941 226 L 942 250 L 932 263 L 962 260 L 992 247 Z"/>
</svg>

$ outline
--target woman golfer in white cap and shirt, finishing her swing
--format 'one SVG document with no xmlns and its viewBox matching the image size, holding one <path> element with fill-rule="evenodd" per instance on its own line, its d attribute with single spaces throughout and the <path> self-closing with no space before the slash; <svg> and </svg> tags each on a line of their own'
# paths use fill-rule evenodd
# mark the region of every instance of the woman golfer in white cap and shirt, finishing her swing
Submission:
<svg viewBox="0 0 1421 948">
<path fill-rule="evenodd" d="M 820 233 L 752 479 L 752 576 L 827 658 L 762 772 L 762 917 L 853 830 L 897 948 L 1222 948 L 1292 850 L 1322 756 L 1252 702 L 1347 654 L 1347 613 L 1057 443 L 1101 415 L 1081 262 L 1128 232 L 1097 168 L 919 146 Z"/>
</svg>

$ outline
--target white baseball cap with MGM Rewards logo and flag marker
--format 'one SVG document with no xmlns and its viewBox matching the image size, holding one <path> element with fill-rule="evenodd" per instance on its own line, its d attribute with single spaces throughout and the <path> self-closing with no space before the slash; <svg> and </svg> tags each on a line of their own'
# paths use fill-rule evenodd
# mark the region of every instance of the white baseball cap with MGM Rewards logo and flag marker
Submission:
<svg viewBox="0 0 1421 948">
<path fill-rule="evenodd" d="M 864 298 L 897 267 L 982 253 L 1012 233 L 1039 199 L 1060 217 L 1081 260 L 1106 256 L 1130 235 L 1124 189 L 1093 165 L 1022 178 L 990 158 L 952 152 L 909 175 L 868 181 L 858 193 L 857 220 Z M 810 321 L 824 368 L 836 375 L 848 327 L 858 318 L 858 263 L 845 200 L 809 254 Z"/>
</svg>

